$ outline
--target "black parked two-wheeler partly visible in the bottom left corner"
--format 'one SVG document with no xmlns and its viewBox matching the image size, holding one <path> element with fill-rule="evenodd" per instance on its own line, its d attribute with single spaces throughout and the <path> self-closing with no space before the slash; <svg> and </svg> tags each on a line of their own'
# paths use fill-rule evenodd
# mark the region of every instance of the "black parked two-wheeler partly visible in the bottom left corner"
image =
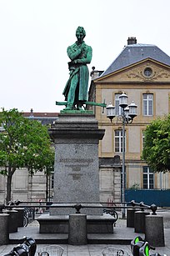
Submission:
<svg viewBox="0 0 170 256">
<path fill-rule="evenodd" d="M 23 243 L 18 244 L 13 250 L 3 256 L 34 256 L 37 244 L 33 238 L 23 237 Z"/>
</svg>

